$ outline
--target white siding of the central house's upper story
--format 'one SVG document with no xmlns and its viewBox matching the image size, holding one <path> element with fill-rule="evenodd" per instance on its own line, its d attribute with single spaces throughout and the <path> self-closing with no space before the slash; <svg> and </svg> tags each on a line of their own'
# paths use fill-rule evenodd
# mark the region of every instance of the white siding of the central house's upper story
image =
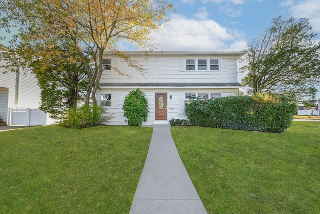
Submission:
<svg viewBox="0 0 320 214">
<path fill-rule="evenodd" d="M 190 57 L 188 57 L 190 59 Z M 208 59 L 208 58 L 195 58 Z M 127 66 L 127 63 L 120 58 L 111 58 L 111 65 L 121 71 L 131 75 L 132 78 L 121 77 L 116 71 L 105 70 L 102 74 L 100 83 L 113 82 L 160 82 L 160 83 L 221 83 L 237 82 L 236 59 L 231 58 L 212 58 L 219 60 L 219 71 L 180 71 L 180 61 L 185 62 L 185 58 L 179 57 L 132 57 L 146 69 L 142 76 L 134 68 Z"/>
</svg>

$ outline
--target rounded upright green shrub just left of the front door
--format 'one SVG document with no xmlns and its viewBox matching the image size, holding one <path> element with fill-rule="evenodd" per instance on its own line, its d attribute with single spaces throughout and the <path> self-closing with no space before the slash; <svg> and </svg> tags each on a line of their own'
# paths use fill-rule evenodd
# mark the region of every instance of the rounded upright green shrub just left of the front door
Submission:
<svg viewBox="0 0 320 214">
<path fill-rule="evenodd" d="M 125 96 L 122 106 L 123 116 L 127 118 L 129 126 L 138 126 L 145 122 L 148 116 L 148 101 L 140 89 L 132 90 Z"/>
</svg>

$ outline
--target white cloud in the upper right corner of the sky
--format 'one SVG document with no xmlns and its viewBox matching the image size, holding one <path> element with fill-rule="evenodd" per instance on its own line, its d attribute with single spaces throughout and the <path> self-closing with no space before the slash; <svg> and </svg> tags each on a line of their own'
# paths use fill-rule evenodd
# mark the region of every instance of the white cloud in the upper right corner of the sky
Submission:
<svg viewBox="0 0 320 214">
<path fill-rule="evenodd" d="M 287 1 L 288 4 L 290 1 Z M 292 17 L 306 18 L 309 20 L 313 31 L 320 31 L 320 1 L 304 0 L 296 4 L 288 5 Z"/>
</svg>

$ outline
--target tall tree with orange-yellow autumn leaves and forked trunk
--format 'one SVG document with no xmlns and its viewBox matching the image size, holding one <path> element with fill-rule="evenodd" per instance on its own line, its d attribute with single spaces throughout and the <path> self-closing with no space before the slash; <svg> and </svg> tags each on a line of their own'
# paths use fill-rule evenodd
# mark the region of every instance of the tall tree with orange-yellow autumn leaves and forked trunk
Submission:
<svg viewBox="0 0 320 214">
<path fill-rule="evenodd" d="M 154 47 L 149 44 L 148 35 L 160 28 L 166 11 L 171 8 L 171 4 L 160 0 L 8 0 L 0 3 L 0 28 L 18 27 L 18 33 L 11 41 L 15 51 L 15 55 L 11 55 L 14 59 L 8 60 L 11 65 L 30 65 L 34 58 L 25 56 L 35 50 L 34 45 L 49 48 L 47 41 L 71 41 L 70 51 L 81 59 L 88 78 L 85 102 L 89 103 L 91 96 L 96 104 L 103 52 L 120 56 L 143 72 L 143 68 L 125 55 L 116 42 L 128 40 L 145 52 L 152 50 Z"/>
</svg>

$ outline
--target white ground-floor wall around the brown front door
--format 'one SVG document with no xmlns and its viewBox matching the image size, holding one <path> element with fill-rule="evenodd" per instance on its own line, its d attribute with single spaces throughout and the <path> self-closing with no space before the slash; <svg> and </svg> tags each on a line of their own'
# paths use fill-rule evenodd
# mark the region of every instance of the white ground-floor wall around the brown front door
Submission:
<svg viewBox="0 0 320 214">
<path fill-rule="evenodd" d="M 147 121 L 142 125 L 152 125 L 154 123 L 154 105 L 155 93 L 167 93 L 167 120 L 186 119 L 184 115 L 184 94 L 185 93 L 221 93 L 222 97 L 235 96 L 236 89 L 141 89 L 148 100 L 149 113 Z M 127 125 L 123 117 L 122 106 L 125 96 L 130 92 L 130 89 L 101 89 L 97 92 L 97 99 L 100 94 L 111 94 L 111 106 L 106 107 L 107 113 L 112 116 L 107 124 L 109 125 Z M 170 99 L 170 95 L 171 98 Z M 115 104 L 114 104 L 115 103 Z"/>
</svg>

